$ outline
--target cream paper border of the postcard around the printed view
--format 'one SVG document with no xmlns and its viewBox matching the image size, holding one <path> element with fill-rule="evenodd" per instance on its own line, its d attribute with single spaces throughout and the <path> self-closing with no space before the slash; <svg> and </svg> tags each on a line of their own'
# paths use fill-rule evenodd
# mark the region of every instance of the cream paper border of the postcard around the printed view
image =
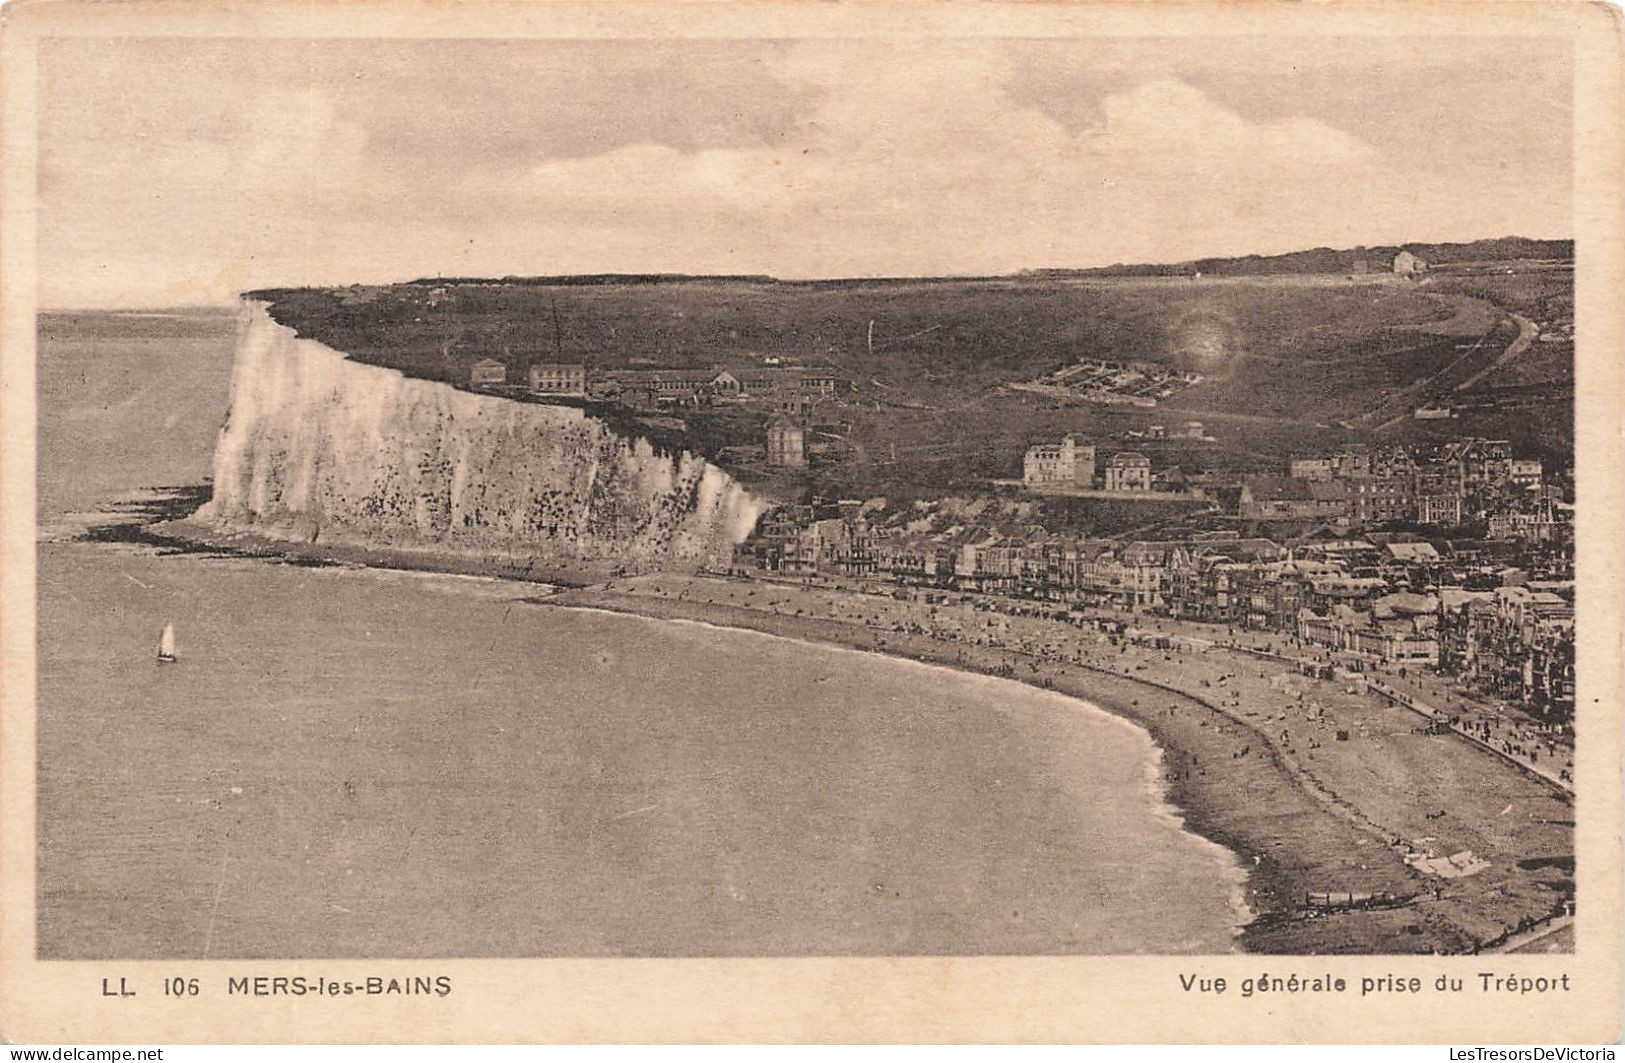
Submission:
<svg viewBox="0 0 1625 1063">
<path fill-rule="evenodd" d="M 128 3 L 3 10 L 0 184 L 0 1040 L 195 1042 L 1614 1042 L 1620 1037 L 1622 36 L 1601 3 Z M 933 37 L 1554 36 L 1575 49 L 1576 952 L 1497 957 L 921 957 L 161 961 L 34 957 L 34 115 L 54 36 Z M 1508 76 L 1516 76 L 1508 72 Z M 445 998 L 255 1000 L 228 977 L 448 974 Z M 1570 974 L 1565 995 L 1242 1000 L 1178 975 Z M 101 978 L 195 975 L 198 1000 L 104 998 Z"/>
</svg>

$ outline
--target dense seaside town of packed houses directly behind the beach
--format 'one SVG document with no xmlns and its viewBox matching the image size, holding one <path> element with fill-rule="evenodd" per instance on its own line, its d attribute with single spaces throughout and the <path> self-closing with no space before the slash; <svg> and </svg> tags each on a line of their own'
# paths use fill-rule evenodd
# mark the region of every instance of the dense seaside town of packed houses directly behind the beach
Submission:
<svg viewBox="0 0 1625 1063">
<path fill-rule="evenodd" d="M 1025 458 L 1029 483 L 1095 479 L 1094 449 L 1072 437 Z M 1563 473 L 1549 479 L 1540 462 L 1485 439 L 1430 453 L 1347 447 L 1282 471 L 1206 483 L 1211 505 L 1113 540 L 1019 527 L 1020 502 L 786 507 L 739 548 L 738 571 L 887 585 L 928 603 L 973 595 L 1269 632 L 1349 668 L 1436 670 L 1566 728 L 1575 554 Z M 1103 473 L 1107 494 L 1152 491 L 1141 453 L 1118 452 Z"/>
</svg>

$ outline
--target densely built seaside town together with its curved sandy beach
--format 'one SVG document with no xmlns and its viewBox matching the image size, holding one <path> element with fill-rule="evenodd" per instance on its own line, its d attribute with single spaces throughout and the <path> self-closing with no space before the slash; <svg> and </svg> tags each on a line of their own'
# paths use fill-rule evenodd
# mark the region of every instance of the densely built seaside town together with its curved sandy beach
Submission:
<svg viewBox="0 0 1625 1063">
<path fill-rule="evenodd" d="M 1027 466 L 1058 476 L 1086 450 L 1037 444 Z M 1394 468 L 1448 494 L 1451 522 L 1417 520 Z M 1118 712 L 1162 744 L 1193 824 L 1248 855 L 1251 951 L 1571 948 L 1563 470 L 1472 439 L 1284 471 L 1298 476 L 1271 483 L 1336 484 L 1342 507 L 1305 491 L 1259 512 L 1240 502 L 1250 478 L 1216 491 L 1232 507 L 1066 540 L 1022 530 L 1019 497 L 819 501 L 765 517 L 726 571 L 536 601 L 892 653 Z M 1355 507 L 1373 484 L 1381 517 Z"/>
</svg>

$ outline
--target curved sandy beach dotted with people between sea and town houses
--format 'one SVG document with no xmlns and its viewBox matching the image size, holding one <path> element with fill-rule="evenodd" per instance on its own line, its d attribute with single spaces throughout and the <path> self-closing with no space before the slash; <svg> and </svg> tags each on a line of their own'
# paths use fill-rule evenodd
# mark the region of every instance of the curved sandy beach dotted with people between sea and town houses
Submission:
<svg viewBox="0 0 1625 1063">
<path fill-rule="evenodd" d="M 1123 715 L 1164 749 L 1168 796 L 1186 826 L 1250 870 L 1248 951 L 1490 949 L 1573 896 L 1573 811 L 1562 790 L 1461 736 L 1428 733 L 1388 699 L 1248 653 L 1152 649 L 973 606 L 936 608 L 920 623 L 920 603 L 759 579 L 652 575 L 536 601 L 890 653 Z M 1469 850 L 1467 873 L 1438 860 Z M 1443 874 L 1412 866 L 1430 857 Z M 1310 904 L 1315 894 L 1332 894 L 1331 907 Z M 1347 907 L 1336 894 L 1375 897 Z"/>
</svg>

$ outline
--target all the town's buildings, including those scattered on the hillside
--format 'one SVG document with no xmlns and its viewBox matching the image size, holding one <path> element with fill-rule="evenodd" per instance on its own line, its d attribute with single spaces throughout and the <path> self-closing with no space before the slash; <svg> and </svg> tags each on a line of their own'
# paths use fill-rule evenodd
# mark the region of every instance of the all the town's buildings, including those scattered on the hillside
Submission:
<svg viewBox="0 0 1625 1063">
<path fill-rule="evenodd" d="M 1396 271 L 1419 260 L 1402 252 Z M 431 294 L 440 289 L 432 289 Z M 442 293 L 444 294 L 444 293 Z M 806 471 L 845 453 L 843 418 L 864 401 L 830 366 L 645 367 L 515 359 L 470 366 L 470 385 L 531 401 L 619 406 L 656 421 L 752 411 L 746 465 Z M 1081 362 L 1098 380 L 1149 379 L 1165 398 L 1199 382 L 1124 362 Z M 1168 382 L 1172 380 L 1172 382 Z M 1121 398 L 1102 401 L 1118 403 Z M 1136 405 L 1155 406 L 1154 398 Z M 1417 419 L 1433 419 L 1419 408 Z M 1029 445 L 1019 478 L 977 494 L 819 497 L 775 505 L 738 546 L 731 574 L 838 580 L 938 606 L 1045 608 L 1058 616 L 1167 618 L 1261 632 L 1363 671 L 1422 668 L 1516 705 L 1554 735 L 1573 720 L 1573 470 L 1506 439 L 1349 442 L 1276 465 L 1185 470 L 1164 444 L 1216 444 L 1199 419 L 1159 416 L 1115 437 L 1068 432 Z M 1115 502 L 1128 533 L 1056 532 L 1045 501 Z M 1164 502 L 1167 507 L 1157 507 Z M 1511 743 L 1508 743 L 1508 753 Z M 1539 753 L 1531 748 L 1531 756 Z"/>
</svg>

